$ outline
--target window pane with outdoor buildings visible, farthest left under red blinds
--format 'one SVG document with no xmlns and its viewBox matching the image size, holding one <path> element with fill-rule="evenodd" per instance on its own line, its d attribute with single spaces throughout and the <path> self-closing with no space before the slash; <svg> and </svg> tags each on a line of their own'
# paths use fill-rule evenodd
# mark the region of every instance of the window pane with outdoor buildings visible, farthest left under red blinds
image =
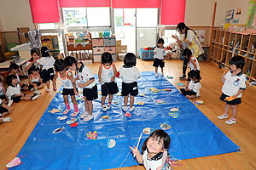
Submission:
<svg viewBox="0 0 256 170">
<path fill-rule="evenodd" d="M 87 26 L 86 8 L 63 8 L 63 17 L 67 27 Z"/>
</svg>

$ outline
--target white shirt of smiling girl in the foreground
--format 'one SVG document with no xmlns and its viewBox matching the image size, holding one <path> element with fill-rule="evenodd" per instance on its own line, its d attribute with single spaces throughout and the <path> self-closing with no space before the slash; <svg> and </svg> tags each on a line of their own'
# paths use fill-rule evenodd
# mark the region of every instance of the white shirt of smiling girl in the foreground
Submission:
<svg viewBox="0 0 256 170">
<path fill-rule="evenodd" d="M 148 150 L 143 152 L 143 165 L 146 170 L 156 170 L 157 167 L 162 166 L 163 153 L 154 156 L 152 159 L 148 159 Z"/>
</svg>

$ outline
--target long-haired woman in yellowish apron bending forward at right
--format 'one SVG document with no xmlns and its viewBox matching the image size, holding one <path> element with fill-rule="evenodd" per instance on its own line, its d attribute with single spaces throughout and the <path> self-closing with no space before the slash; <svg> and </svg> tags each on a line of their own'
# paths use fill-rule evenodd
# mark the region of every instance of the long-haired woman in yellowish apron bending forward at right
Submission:
<svg viewBox="0 0 256 170">
<path fill-rule="evenodd" d="M 196 33 L 194 30 L 190 29 L 183 22 L 177 25 L 177 31 L 179 33 L 179 37 L 177 35 L 173 35 L 172 37 L 177 40 L 177 43 L 182 48 L 189 48 L 192 51 L 192 55 L 198 57 L 203 54 L 204 51 L 201 48 L 201 43 L 198 41 L 196 37 Z M 189 60 L 183 60 L 183 76 L 179 77 L 179 79 L 186 79 L 186 71 Z"/>
</svg>

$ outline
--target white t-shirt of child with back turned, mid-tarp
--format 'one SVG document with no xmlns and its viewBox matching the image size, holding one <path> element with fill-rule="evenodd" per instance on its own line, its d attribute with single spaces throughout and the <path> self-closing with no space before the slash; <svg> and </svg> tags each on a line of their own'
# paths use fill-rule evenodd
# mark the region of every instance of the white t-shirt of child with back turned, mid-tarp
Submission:
<svg viewBox="0 0 256 170">
<path fill-rule="evenodd" d="M 122 66 L 119 69 L 119 77 L 125 83 L 137 82 L 137 79 L 141 77 L 140 71 L 135 66 Z"/>
</svg>

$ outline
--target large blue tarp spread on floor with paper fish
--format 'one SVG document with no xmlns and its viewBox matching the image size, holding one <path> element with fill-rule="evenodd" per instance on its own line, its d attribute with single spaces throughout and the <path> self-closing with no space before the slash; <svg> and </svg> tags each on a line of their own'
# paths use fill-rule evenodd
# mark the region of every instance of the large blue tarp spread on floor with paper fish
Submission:
<svg viewBox="0 0 256 170">
<path fill-rule="evenodd" d="M 160 128 L 160 123 L 171 125 L 166 133 L 171 137 L 169 152 L 178 159 L 189 159 L 201 156 L 212 156 L 239 150 L 218 127 L 216 127 L 195 105 L 180 94 L 164 77 L 155 77 L 154 72 L 141 72 L 138 81 L 140 94 L 137 101 L 144 101 L 144 105 L 135 105 L 136 110 L 131 113 L 131 118 L 124 116 L 121 110 L 123 97 L 114 95 L 113 100 L 120 101 L 112 105 L 112 109 L 103 112 L 100 100 L 93 101 L 94 120 L 82 122 L 78 120 L 78 127 L 69 127 L 67 120 L 58 120 L 62 113 L 51 114 L 53 108 L 65 110 L 61 93 L 57 93 L 49 104 L 44 115 L 26 140 L 18 156 L 24 163 L 17 169 L 108 169 L 118 168 L 129 152 L 129 146 L 136 144 L 143 128 Z M 119 92 L 121 80 L 117 79 Z M 98 90 L 101 84 L 98 83 Z M 149 88 L 172 88 L 172 91 L 154 93 Z M 61 88 L 62 89 L 62 88 Z M 60 89 L 60 90 L 61 90 Z M 81 95 L 81 94 L 80 94 Z M 101 96 L 99 96 L 101 98 Z M 164 104 L 157 104 L 155 100 L 162 99 Z M 73 104 L 70 100 L 71 108 Z M 207 105 L 207 104 L 206 104 Z M 169 110 L 178 107 L 180 116 L 169 116 Z M 79 116 L 84 112 L 84 101 L 79 100 Z M 69 119 L 71 113 L 69 112 Z M 102 119 L 110 116 L 110 119 Z M 66 127 L 61 133 L 52 133 L 57 127 Z M 86 133 L 96 131 L 97 139 L 87 139 Z M 139 145 L 141 150 L 143 141 L 148 135 L 143 134 Z M 116 145 L 108 148 L 108 139 L 114 139 Z M 137 165 L 137 161 L 130 153 L 122 167 Z"/>
</svg>

